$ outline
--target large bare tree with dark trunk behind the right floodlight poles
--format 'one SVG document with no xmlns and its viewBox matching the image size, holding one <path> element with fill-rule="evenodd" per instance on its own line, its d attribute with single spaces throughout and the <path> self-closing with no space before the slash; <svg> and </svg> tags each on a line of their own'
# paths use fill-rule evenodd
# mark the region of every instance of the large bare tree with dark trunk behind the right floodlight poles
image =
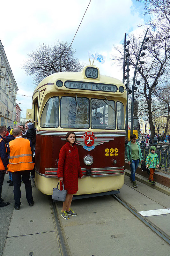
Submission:
<svg viewBox="0 0 170 256">
<path fill-rule="evenodd" d="M 137 74 L 137 80 L 140 80 L 141 83 L 135 94 L 135 98 L 137 98 L 138 101 L 143 101 L 143 109 L 141 109 L 141 111 L 148 115 L 152 139 L 155 137 L 155 127 L 152 121 L 153 112 L 156 110 L 156 108 L 153 108 L 153 104 L 156 101 L 154 92 L 157 91 L 157 86 L 159 84 L 165 84 L 169 78 L 170 39 L 168 38 L 168 33 L 169 30 L 164 31 L 164 37 L 166 39 L 158 41 L 157 33 L 150 31 L 148 34 L 150 38 L 148 49 L 144 57 L 140 58 L 140 61 L 144 60 L 145 64 L 141 65 L 141 70 Z M 135 67 L 142 37 L 140 39 L 130 35 L 129 39 L 131 41 L 129 44 L 129 58 L 132 66 Z M 123 50 L 118 49 L 118 51 L 120 54 L 118 56 L 113 56 L 112 59 L 115 62 L 119 61 L 122 65 Z M 157 105 L 157 109 L 158 108 L 159 106 Z"/>
</svg>

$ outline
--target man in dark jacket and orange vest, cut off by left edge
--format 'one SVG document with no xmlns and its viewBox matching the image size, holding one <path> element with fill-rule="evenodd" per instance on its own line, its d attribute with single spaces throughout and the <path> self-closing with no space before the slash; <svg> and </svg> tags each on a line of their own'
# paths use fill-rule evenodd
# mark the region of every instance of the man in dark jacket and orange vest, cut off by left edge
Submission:
<svg viewBox="0 0 170 256">
<path fill-rule="evenodd" d="M 6 127 L 0 126 L 0 207 L 4 207 L 9 205 L 10 203 L 4 202 L 2 199 L 2 185 L 4 182 L 5 174 L 8 174 L 8 157 L 7 157 L 7 149 L 4 141 L 4 137 L 6 136 Z"/>
</svg>

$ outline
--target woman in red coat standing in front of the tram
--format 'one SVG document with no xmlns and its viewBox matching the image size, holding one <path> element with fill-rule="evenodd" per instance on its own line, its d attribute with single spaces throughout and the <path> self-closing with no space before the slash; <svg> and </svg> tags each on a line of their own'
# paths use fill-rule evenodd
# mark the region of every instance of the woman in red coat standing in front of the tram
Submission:
<svg viewBox="0 0 170 256">
<path fill-rule="evenodd" d="M 77 216 L 77 213 L 70 207 L 73 194 L 76 194 L 78 191 L 78 178 L 81 179 L 83 174 L 79 162 L 78 148 L 75 145 L 75 133 L 67 132 L 66 141 L 67 143 L 60 149 L 57 176 L 60 181 L 60 190 L 62 190 L 62 181 L 64 189 L 67 190 L 61 216 L 64 219 L 69 219 L 68 215 Z"/>
</svg>

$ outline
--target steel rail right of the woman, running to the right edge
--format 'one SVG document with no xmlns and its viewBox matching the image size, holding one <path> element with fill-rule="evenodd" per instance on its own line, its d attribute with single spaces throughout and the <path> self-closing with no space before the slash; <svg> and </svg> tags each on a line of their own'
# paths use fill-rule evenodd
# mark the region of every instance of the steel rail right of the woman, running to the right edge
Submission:
<svg viewBox="0 0 170 256">
<path fill-rule="evenodd" d="M 144 218 L 142 215 L 140 215 L 135 208 L 129 205 L 126 201 L 122 200 L 119 196 L 117 195 L 111 195 L 111 196 L 115 198 L 118 202 L 120 202 L 124 207 L 126 207 L 133 215 L 135 215 L 140 221 L 142 221 L 147 227 L 149 227 L 159 237 L 161 237 L 168 245 L 170 245 L 170 237 L 163 230 L 159 229 L 159 227 L 154 225 L 154 223 L 152 223 L 147 218 Z"/>
</svg>

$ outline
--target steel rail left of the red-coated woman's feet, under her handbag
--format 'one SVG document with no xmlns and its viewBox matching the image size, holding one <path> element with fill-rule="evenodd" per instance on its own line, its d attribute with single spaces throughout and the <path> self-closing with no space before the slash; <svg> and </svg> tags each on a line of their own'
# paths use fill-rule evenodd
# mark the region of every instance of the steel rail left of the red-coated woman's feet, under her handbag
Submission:
<svg viewBox="0 0 170 256">
<path fill-rule="evenodd" d="M 55 232 L 56 232 L 56 236 L 57 236 L 57 242 L 58 242 L 60 255 L 61 256 L 71 256 L 70 248 L 69 248 L 69 245 L 65 238 L 63 225 L 58 216 L 59 211 L 57 209 L 57 206 L 51 199 L 51 196 L 48 196 L 48 199 L 49 199 L 49 203 L 50 203 L 50 207 L 51 207 L 52 217 L 53 217 L 53 220 L 55 221 Z"/>
</svg>

